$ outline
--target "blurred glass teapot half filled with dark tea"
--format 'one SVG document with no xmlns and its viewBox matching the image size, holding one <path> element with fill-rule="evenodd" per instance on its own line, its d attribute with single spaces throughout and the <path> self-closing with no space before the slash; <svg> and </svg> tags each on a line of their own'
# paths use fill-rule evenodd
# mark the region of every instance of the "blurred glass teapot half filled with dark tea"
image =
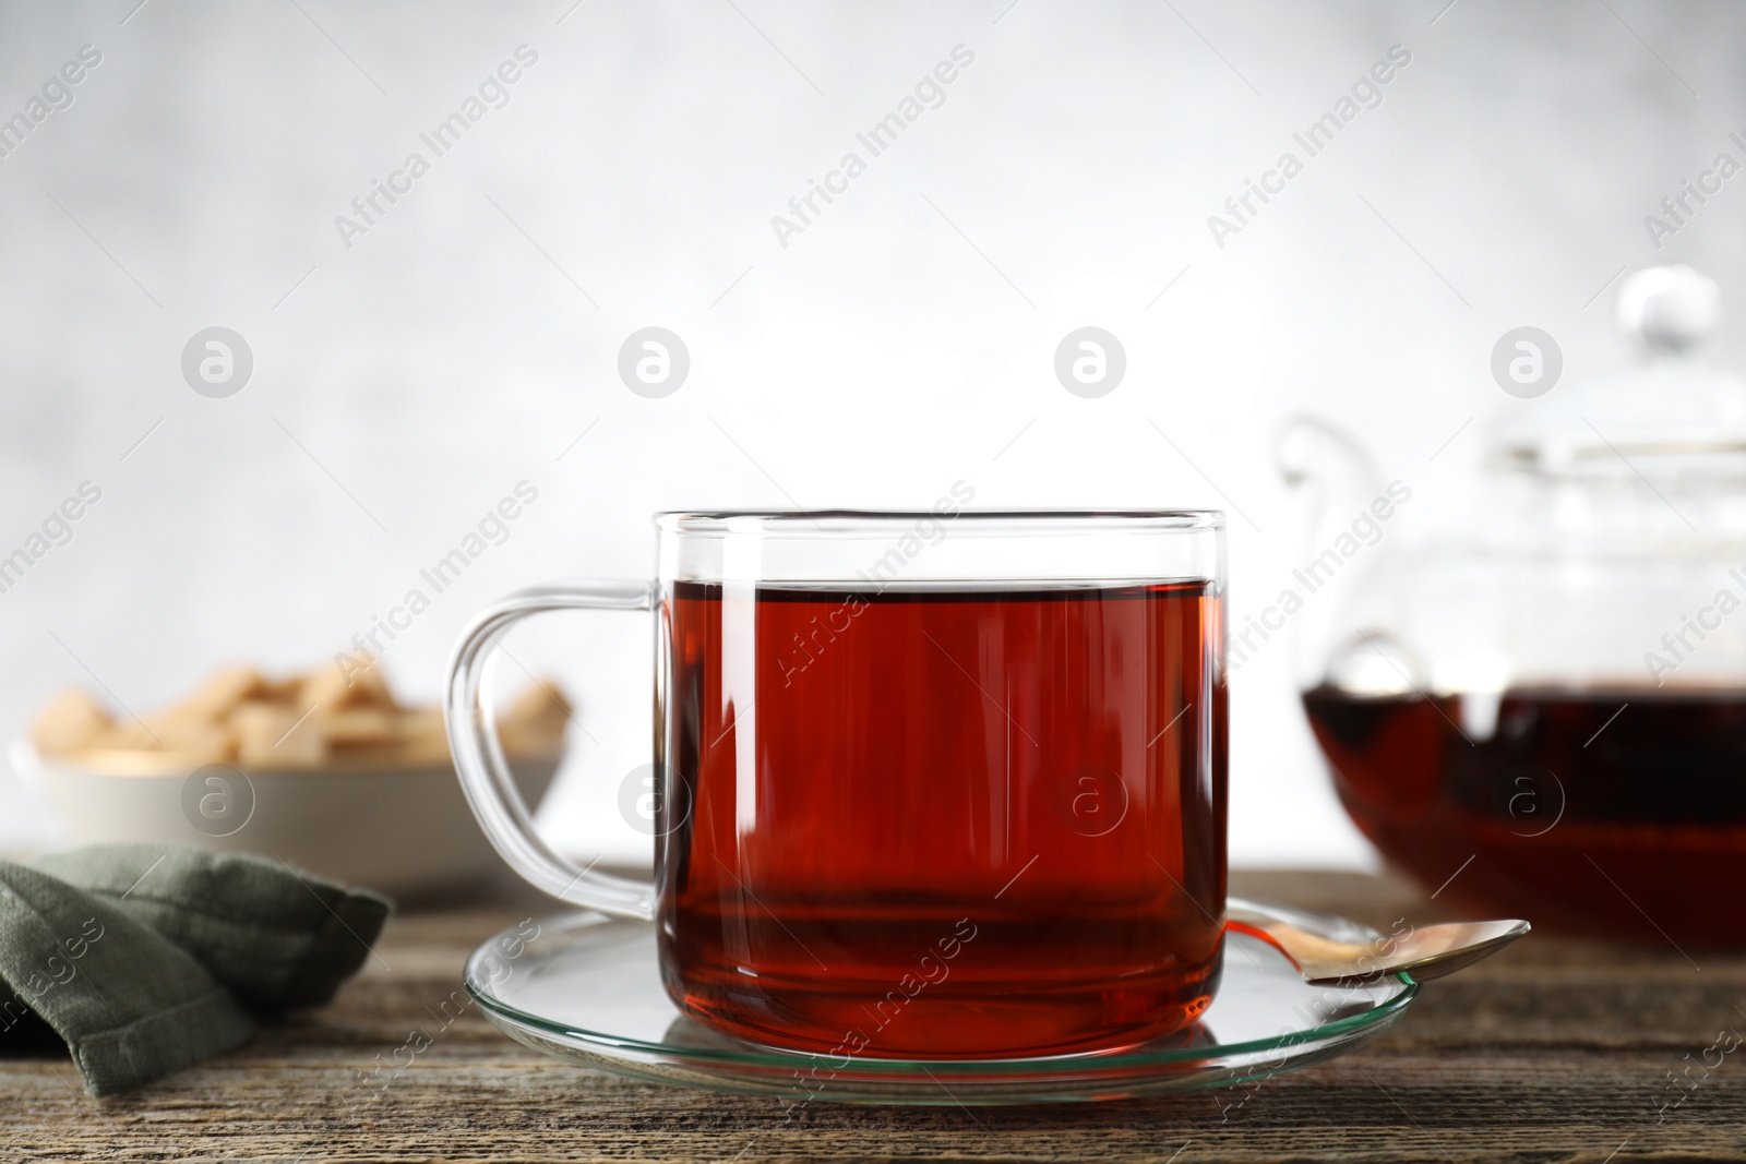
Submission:
<svg viewBox="0 0 1746 1164">
<path fill-rule="evenodd" d="M 1428 888 L 1746 948 L 1746 384 L 1699 356 L 1718 290 L 1695 270 L 1633 274 L 1617 319 L 1634 366 L 1510 408 L 1465 536 L 1329 569 L 1303 703 L 1351 818 Z M 1500 366 L 1549 358 L 1529 337 Z M 1282 466 L 1315 497 L 1311 564 L 1406 489 L 1313 419 Z"/>
</svg>

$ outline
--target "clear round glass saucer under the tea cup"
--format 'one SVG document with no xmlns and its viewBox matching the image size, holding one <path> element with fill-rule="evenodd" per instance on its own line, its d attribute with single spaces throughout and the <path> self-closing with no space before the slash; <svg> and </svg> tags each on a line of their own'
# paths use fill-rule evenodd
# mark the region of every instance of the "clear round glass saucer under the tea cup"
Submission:
<svg viewBox="0 0 1746 1164">
<path fill-rule="evenodd" d="M 1381 937 L 1343 918 L 1292 911 L 1292 920 L 1329 935 Z M 468 960 L 466 989 L 498 1030 L 559 1059 L 793 1105 L 1056 1103 L 1224 1087 L 1362 1047 L 1418 995 L 1404 974 L 1364 988 L 1310 986 L 1273 946 L 1229 932 L 1212 1007 L 1166 1038 L 1025 1059 L 805 1054 L 740 1042 L 683 1016 L 662 988 L 655 927 L 597 913 L 492 937 Z"/>
</svg>

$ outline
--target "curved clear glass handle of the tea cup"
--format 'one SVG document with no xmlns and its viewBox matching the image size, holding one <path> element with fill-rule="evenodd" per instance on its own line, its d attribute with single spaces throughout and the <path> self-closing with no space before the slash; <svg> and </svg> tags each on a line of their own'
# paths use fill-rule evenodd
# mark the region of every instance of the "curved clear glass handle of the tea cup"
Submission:
<svg viewBox="0 0 1746 1164">
<path fill-rule="evenodd" d="M 503 743 L 482 696 L 485 663 L 498 635 L 512 623 L 545 611 L 651 611 L 655 588 L 630 581 L 578 581 L 522 590 L 487 607 L 456 642 L 449 658 L 445 719 L 454 770 L 461 775 L 480 829 L 515 873 L 538 890 L 573 906 L 622 918 L 651 920 L 655 887 L 629 878 L 578 869 L 534 832 L 533 815 L 503 757 Z"/>
</svg>

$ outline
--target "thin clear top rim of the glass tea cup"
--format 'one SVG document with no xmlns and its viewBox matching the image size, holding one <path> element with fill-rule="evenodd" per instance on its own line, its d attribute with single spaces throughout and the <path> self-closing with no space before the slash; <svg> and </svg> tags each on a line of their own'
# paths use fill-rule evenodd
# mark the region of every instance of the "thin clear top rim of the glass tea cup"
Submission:
<svg viewBox="0 0 1746 1164">
<path fill-rule="evenodd" d="M 663 534 L 784 534 L 801 537 L 843 536 L 857 527 L 878 527 L 890 522 L 946 520 L 953 525 L 995 522 L 1007 536 L 1018 531 L 1013 524 L 1034 522 L 1060 532 L 1063 527 L 1096 529 L 1140 527 L 1154 532 L 1220 531 L 1226 527 L 1224 510 L 665 510 L 655 515 L 655 527 Z"/>
</svg>

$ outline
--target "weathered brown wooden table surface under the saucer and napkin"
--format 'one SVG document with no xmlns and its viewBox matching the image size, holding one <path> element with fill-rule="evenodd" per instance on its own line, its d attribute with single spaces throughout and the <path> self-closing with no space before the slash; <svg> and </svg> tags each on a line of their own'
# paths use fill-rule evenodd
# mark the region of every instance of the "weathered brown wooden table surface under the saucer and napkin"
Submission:
<svg viewBox="0 0 1746 1164">
<path fill-rule="evenodd" d="M 1240 873 L 1233 892 L 1383 930 L 1439 918 L 1404 883 L 1360 874 Z M 520 899 L 402 914 L 335 1005 L 134 1094 L 93 1101 L 65 1059 L 0 1059 L 0 1159 L 1746 1159 L 1746 1049 L 1704 1054 L 1718 1033 L 1746 1033 L 1746 958 L 1697 955 L 1699 969 L 1671 948 L 1543 934 L 1425 986 L 1371 1047 L 1248 1089 L 1028 1108 L 821 1103 L 784 1124 L 773 1099 L 546 1059 L 466 1005 L 347 1115 L 360 1073 L 414 1026 L 435 1030 L 443 1003 L 454 1014 L 466 955 L 529 909 L 550 911 Z"/>
</svg>

